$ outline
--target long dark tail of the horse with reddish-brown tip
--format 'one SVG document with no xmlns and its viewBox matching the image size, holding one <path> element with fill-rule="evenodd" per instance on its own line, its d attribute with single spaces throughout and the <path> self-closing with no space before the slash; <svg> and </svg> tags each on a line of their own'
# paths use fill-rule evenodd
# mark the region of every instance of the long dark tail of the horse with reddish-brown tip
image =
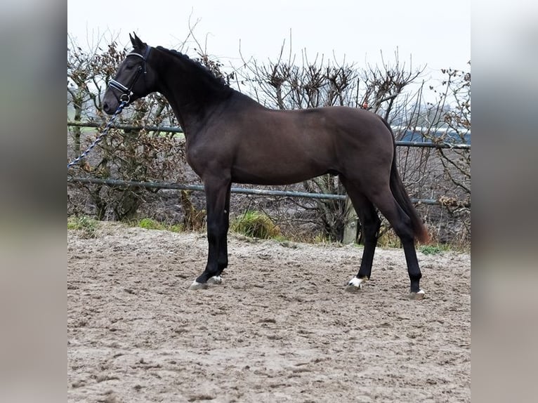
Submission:
<svg viewBox="0 0 538 403">
<path fill-rule="evenodd" d="M 402 210 L 405 211 L 407 216 L 409 216 L 409 218 L 411 219 L 411 226 L 413 228 L 413 234 L 415 239 L 418 239 L 419 242 L 423 244 L 427 244 L 430 240 L 428 231 L 426 230 L 426 227 L 424 227 L 424 223 L 419 217 L 419 214 L 416 212 L 416 209 L 414 208 L 411 199 L 409 198 L 409 194 L 407 194 L 405 186 L 402 183 L 400 173 L 398 173 L 398 168 L 396 166 L 396 143 L 393 130 L 385 119 L 382 120 L 385 126 L 387 126 L 388 130 L 391 131 L 391 135 L 393 136 L 394 154 L 390 178 L 391 192 L 393 193 L 396 202 L 398 202 Z"/>
</svg>

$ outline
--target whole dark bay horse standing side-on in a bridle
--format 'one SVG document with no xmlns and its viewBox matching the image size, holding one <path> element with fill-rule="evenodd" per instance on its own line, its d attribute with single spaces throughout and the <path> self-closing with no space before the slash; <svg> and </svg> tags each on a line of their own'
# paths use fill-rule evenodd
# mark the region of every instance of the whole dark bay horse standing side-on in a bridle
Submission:
<svg viewBox="0 0 538 403">
<path fill-rule="evenodd" d="M 365 239 L 360 269 L 346 289 L 356 291 L 370 277 L 379 209 L 402 241 L 410 298 L 424 297 L 415 242 L 427 242 L 428 234 L 396 169 L 386 121 L 351 107 L 270 110 L 188 56 L 130 37 L 133 51 L 110 81 L 103 109 L 113 114 L 120 100 L 130 103 L 156 91 L 185 132 L 187 161 L 206 192 L 209 242 L 206 268 L 191 289 L 221 282 L 228 265 L 232 183 L 287 185 L 334 173 L 346 187 Z"/>
</svg>

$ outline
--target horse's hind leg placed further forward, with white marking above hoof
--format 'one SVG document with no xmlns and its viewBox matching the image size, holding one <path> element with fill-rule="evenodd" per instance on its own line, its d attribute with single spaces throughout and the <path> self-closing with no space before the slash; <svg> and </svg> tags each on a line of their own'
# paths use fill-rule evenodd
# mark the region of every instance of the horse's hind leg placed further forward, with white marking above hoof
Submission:
<svg viewBox="0 0 538 403">
<path fill-rule="evenodd" d="M 372 274 L 372 263 L 374 262 L 374 252 L 377 246 L 377 233 L 381 225 L 381 220 L 377 215 L 374 204 L 358 190 L 358 187 L 350 180 L 341 177 L 348 196 L 355 207 L 361 225 L 362 239 L 365 248 L 362 251 L 359 272 L 350 280 L 346 291 L 354 292 L 362 288 L 362 284 L 370 278 Z"/>
</svg>

